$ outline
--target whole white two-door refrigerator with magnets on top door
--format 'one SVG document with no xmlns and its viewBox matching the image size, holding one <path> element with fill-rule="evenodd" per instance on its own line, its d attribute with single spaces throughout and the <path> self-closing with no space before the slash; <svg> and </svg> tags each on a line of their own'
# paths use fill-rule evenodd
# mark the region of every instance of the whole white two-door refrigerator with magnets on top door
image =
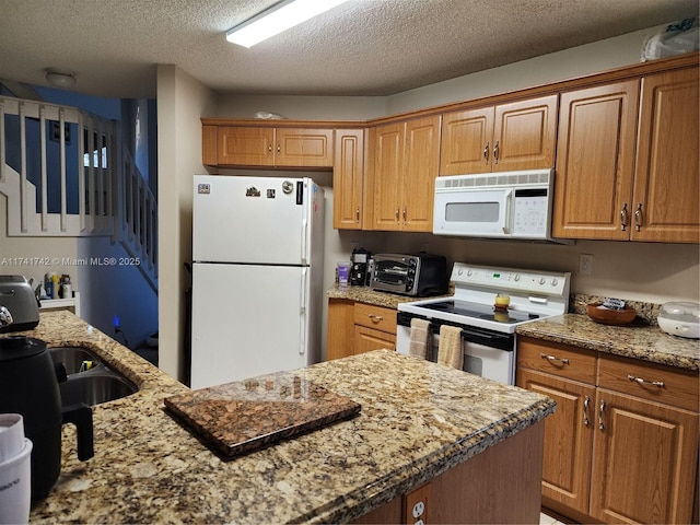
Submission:
<svg viewBox="0 0 700 525">
<path fill-rule="evenodd" d="M 192 205 L 191 387 L 317 362 L 323 189 L 195 175 Z"/>
</svg>

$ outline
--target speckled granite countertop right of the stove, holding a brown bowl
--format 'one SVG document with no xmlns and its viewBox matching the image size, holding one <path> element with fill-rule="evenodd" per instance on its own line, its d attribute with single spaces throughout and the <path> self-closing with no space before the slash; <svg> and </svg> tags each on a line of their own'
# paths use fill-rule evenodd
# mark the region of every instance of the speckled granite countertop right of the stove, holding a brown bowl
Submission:
<svg viewBox="0 0 700 525">
<path fill-rule="evenodd" d="M 609 326 L 586 315 L 565 314 L 526 323 L 516 328 L 516 334 L 679 369 L 698 371 L 700 365 L 698 339 L 670 336 L 658 326 L 642 323 Z"/>
</svg>

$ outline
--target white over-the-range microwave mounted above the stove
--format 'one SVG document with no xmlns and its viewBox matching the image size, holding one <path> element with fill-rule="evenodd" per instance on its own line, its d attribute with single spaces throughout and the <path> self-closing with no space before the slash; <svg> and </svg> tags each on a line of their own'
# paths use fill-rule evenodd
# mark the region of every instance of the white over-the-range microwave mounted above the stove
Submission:
<svg viewBox="0 0 700 525">
<path fill-rule="evenodd" d="M 552 241 L 553 183 L 551 168 L 438 177 L 433 233 Z"/>
</svg>

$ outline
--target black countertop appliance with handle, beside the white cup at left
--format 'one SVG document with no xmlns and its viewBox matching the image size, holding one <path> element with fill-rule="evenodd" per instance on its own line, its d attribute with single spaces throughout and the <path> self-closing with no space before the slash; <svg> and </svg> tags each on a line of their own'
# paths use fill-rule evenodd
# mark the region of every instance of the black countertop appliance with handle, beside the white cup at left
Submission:
<svg viewBox="0 0 700 525">
<path fill-rule="evenodd" d="M 78 428 L 78 458 L 93 456 L 92 409 L 61 407 L 62 363 L 54 364 L 46 343 L 24 336 L 0 337 L 0 413 L 21 413 L 32 441 L 32 500 L 48 495 L 61 471 L 61 425 Z"/>
</svg>

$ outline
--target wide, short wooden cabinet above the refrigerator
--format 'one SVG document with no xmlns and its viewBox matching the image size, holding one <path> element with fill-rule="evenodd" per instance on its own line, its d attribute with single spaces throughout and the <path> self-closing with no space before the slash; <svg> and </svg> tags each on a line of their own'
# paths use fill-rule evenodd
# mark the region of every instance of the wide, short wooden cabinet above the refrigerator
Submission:
<svg viewBox="0 0 700 525">
<path fill-rule="evenodd" d="M 203 126 L 205 164 L 231 166 L 331 167 L 332 129 Z M 213 128 L 213 129 L 208 129 Z M 215 161 L 215 162 L 212 162 Z"/>
</svg>

